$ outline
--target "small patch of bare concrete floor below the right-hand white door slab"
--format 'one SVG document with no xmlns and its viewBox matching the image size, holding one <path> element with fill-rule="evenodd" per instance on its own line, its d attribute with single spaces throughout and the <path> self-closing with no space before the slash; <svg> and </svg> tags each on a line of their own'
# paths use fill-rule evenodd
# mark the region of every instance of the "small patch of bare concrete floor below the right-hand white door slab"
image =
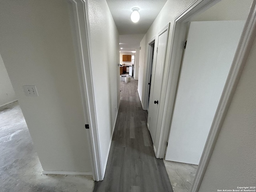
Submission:
<svg viewBox="0 0 256 192">
<path fill-rule="evenodd" d="M 174 192 L 190 192 L 196 175 L 197 165 L 164 160 Z"/>
</svg>

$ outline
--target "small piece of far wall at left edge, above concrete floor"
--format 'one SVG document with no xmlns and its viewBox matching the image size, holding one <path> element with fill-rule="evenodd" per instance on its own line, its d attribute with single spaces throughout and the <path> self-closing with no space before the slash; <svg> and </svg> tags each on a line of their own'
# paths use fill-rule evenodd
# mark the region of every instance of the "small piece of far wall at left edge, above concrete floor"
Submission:
<svg viewBox="0 0 256 192">
<path fill-rule="evenodd" d="M 4 106 L 17 100 L 12 88 L 12 83 L 0 55 L 0 106 Z"/>
</svg>

